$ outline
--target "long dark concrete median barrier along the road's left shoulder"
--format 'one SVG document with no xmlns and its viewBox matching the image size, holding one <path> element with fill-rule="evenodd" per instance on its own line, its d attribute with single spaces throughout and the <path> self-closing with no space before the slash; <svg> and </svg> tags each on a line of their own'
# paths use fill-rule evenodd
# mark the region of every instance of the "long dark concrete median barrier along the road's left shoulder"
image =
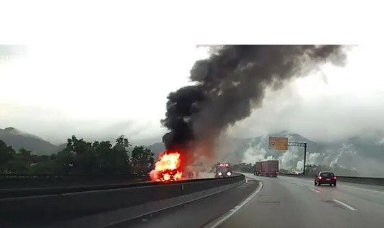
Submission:
<svg viewBox="0 0 384 228">
<path fill-rule="evenodd" d="M 59 191 L 49 195 L 2 198 L 0 222 L 12 227 L 23 224 L 43 226 L 56 224 L 57 221 L 62 221 L 59 224 L 64 224 L 64 227 L 78 227 L 77 224 L 105 227 L 219 193 L 244 182 L 245 176 L 238 175 L 231 178 L 143 183 L 142 186 L 136 184 L 111 189 L 95 187 L 94 190 L 78 192 Z M 23 220 L 20 220 L 21 217 Z"/>
</svg>

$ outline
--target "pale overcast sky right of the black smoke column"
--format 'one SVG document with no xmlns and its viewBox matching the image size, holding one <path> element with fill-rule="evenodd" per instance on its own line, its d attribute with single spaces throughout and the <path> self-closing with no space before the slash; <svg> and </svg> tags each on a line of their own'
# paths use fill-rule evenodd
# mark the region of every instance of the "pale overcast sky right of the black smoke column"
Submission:
<svg viewBox="0 0 384 228">
<path fill-rule="evenodd" d="M 280 91 L 268 90 L 263 108 L 232 127 L 232 135 L 289 130 L 322 141 L 368 133 L 383 137 L 382 53 L 383 47 L 350 47 L 345 67 L 326 64 Z"/>
</svg>

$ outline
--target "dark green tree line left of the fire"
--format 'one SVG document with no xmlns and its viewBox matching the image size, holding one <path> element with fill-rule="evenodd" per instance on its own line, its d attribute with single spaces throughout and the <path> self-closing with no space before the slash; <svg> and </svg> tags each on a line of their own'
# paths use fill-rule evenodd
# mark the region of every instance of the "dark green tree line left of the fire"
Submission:
<svg viewBox="0 0 384 228">
<path fill-rule="evenodd" d="M 131 146 L 124 135 L 117 137 L 114 145 L 110 141 L 86 142 L 74 135 L 57 154 L 37 155 L 24 148 L 16 152 L 0 139 L 0 173 L 147 175 L 153 169 L 154 154 L 143 146 Z"/>
</svg>

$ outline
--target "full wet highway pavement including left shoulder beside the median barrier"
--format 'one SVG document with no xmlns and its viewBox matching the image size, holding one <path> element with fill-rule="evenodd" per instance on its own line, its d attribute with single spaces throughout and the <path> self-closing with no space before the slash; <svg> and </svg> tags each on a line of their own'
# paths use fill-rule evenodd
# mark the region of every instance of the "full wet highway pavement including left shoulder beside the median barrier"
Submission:
<svg viewBox="0 0 384 228">
<path fill-rule="evenodd" d="M 243 186 L 115 227 L 384 227 L 384 186 L 246 176 Z M 257 194 L 252 178 L 263 183 Z"/>
</svg>

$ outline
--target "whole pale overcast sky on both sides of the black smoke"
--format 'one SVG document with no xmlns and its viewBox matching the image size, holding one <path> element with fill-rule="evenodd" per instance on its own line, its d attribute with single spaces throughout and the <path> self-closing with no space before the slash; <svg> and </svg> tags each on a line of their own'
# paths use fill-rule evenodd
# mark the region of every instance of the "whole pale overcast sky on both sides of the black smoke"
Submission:
<svg viewBox="0 0 384 228">
<path fill-rule="evenodd" d="M 0 65 L 0 127 L 16 127 L 55 143 L 73 134 L 87 139 L 123 134 L 133 142 L 159 142 L 165 132 L 160 119 L 166 96 L 190 84 L 192 64 L 208 56 L 206 47 L 195 45 L 11 48 L 14 56 L 21 54 Z M 380 52 L 361 45 L 347 53 L 345 67 L 326 64 L 279 91 L 269 89 L 263 107 L 229 134 L 254 137 L 289 130 L 329 141 L 384 131 Z"/>
</svg>

